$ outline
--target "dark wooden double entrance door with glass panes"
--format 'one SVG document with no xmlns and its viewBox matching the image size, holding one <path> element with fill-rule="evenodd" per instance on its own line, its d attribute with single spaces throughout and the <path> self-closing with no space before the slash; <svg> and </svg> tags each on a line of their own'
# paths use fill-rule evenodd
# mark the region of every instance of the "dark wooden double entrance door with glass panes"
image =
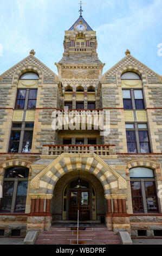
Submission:
<svg viewBox="0 0 162 256">
<path fill-rule="evenodd" d="M 77 189 L 69 191 L 69 220 L 77 220 L 79 210 L 79 220 L 90 220 L 90 198 L 89 190 Z"/>
</svg>

